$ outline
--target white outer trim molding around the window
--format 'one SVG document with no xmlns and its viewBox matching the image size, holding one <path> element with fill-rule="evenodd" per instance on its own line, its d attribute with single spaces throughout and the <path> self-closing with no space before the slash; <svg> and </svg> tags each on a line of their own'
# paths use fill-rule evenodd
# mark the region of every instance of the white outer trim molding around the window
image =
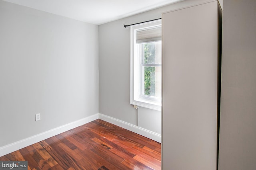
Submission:
<svg viewBox="0 0 256 170">
<path fill-rule="evenodd" d="M 139 80 L 139 75 L 135 75 L 134 74 L 134 68 L 137 67 L 137 70 L 139 69 L 138 67 L 138 63 L 137 65 L 134 64 L 134 50 L 136 49 L 136 47 L 134 47 L 134 44 L 136 44 L 136 39 L 134 39 L 134 34 L 136 33 L 137 29 L 141 29 L 143 25 L 143 28 L 150 28 L 150 27 L 156 27 L 159 25 L 162 25 L 162 20 L 155 20 L 155 21 L 150 21 L 147 23 L 140 23 L 137 25 L 132 25 L 130 27 L 130 104 L 132 105 L 136 105 L 136 106 L 141 106 L 141 107 L 146 107 L 148 109 L 154 109 L 154 110 L 158 110 L 161 111 L 161 107 L 162 107 L 162 99 L 160 100 L 160 102 L 156 103 L 153 101 L 148 101 L 148 100 L 143 100 L 141 98 L 139 98 L 138 96 L 135 96 L 134 94 L 134 90 L 136 90 L 134 88 L 134 82 L 138 83 Z M 137 80 L 135 80 L 137 79 Z M 139 86 L 138 86 L 139 88 Z M 137 88 L 137 92 L 138 93 L 138 89 Z"/>
</svg>

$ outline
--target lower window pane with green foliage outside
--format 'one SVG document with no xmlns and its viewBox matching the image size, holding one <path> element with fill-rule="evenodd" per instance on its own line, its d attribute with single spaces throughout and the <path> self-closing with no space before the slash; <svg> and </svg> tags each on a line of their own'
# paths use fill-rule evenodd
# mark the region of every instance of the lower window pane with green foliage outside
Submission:
<svg viewBox="0 0 256 170">
<path fill-rule="evenodd" d="M 144 95 L 161 97 L 161 67 L 144 66 Z"/>
</svg>

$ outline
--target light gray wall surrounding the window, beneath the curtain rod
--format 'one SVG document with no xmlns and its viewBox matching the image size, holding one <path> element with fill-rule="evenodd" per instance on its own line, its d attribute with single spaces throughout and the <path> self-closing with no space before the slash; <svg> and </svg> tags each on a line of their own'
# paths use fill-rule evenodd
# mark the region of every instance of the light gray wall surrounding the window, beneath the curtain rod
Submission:
<svg viewBox="0 0 256 170">
<path fill-rule="evenodd" d="M 130 104 L 130 27 L 124 24 L 161 18 L 158 9 L 99 25 L 99 112 L 137 125 Z M 161 111 L 139 108 L 139 126 L 161 134 Z"/>
</svg>

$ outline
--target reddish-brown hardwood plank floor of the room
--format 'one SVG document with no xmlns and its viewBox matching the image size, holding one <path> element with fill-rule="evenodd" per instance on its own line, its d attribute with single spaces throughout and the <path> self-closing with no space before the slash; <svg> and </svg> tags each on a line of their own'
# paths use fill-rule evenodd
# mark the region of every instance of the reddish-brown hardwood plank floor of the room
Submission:
<svg viewBox="0 0 256 170">
<path fill-rule="evenodd" d="M 0 157 L 28 170 L 160 170 L 161 144 L 95 120 Z"/>
</svg>

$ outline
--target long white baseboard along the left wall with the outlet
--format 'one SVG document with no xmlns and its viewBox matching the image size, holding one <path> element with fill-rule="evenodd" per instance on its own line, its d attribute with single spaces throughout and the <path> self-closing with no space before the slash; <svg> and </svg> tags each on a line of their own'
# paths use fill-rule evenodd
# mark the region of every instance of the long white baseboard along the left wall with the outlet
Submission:
<svg viewBox="0 0 256 170">
<path fill-rule="evenodd" d="M 68 123 L 66 125 L 62 125 L 60 127 L 56 127 L 54 129 L 51 129 L 49 131 L 40 133 L 38 135 L 34 135 L 32 137 L 28 137 L 26 139 L 11 143 L 9 145 L 5 145 L 3 147 L 0 147 L 0 156 L 4 156 L 8 153 L 14 152 L 16 150 L 22 149 L 24 147 L 27 147 L 29 145 L 32 145 L 34 143 L 40 142 L 44 139 L 48 139 L 50 137 L 53 137 L 55 135 L 58 135 L 60 133 L 63 133 L 65 131 L 68 131 L 70 129 L 74 129 L 75 127 L 84 125 L 86 123 L 89 123 L 91 121 L 94 121 L 99 118 L 98 113 L 85 117 L 83 119 Z"/>
</svg>

